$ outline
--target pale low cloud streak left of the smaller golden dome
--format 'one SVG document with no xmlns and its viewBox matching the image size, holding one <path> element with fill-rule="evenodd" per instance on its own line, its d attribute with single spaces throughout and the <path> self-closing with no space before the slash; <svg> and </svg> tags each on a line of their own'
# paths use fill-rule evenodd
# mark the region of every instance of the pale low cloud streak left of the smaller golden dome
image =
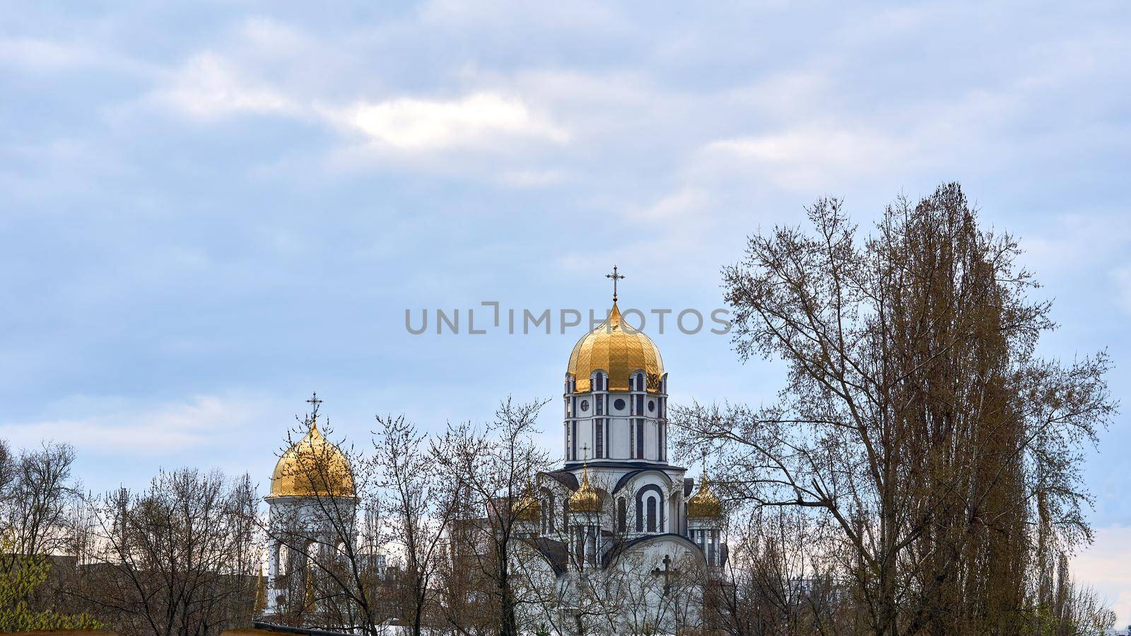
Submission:
<svg viewBox="0 0 1131 636">
<path fill-rule="evenodd" d="M 0 423 L 0 436 L 16 447 L 53 440 L 69 442 L 80 453 L 98 455 L 163 454 L 213 446 L 218 432 L 238 428 L 254 412 L 249 404 L 214 396 L 141 409 L 78 402 L 67 410 L 101 410 L 102 413 Z"/>
</svg>

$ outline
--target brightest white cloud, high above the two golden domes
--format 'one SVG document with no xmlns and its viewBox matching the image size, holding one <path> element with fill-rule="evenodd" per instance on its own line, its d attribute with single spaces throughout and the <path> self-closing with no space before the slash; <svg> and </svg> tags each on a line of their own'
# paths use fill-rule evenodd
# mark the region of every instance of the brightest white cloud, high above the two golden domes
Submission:
<svg viewBox="0 0 1131 636">
<path fill-rule="evenodd" d="M 348 109 L 344 120 L 377 144 L 409 152 L 485 148 L 506 137 L 569 140 L 566 130 L 534 114 L 523 101 L 494 93 L 450 101 L 404 97 L 361 103 Z"/>
</svg>

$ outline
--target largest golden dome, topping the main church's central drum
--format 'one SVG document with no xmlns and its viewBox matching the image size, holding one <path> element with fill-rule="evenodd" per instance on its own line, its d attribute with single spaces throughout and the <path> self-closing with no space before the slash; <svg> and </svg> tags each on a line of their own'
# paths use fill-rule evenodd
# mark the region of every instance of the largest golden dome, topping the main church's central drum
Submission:
<svg viewBox="0 0 1131 636">
<path fill-rule="evenodd" d="M 629 390 L 629 378 L 642 370 L 648 393 L 659 393 L 659 380 L 664 377 L 659 350 L 642 332 L 624 326 L 628 328 L 621 328 L 621 310 L 614 300 L 608 319 L 573 345 L 567 372 L 577 380 L 575 393 L 589 390 L 589 375 L 597 369 L 608 373 L 608 390 Z"/>
</svg>

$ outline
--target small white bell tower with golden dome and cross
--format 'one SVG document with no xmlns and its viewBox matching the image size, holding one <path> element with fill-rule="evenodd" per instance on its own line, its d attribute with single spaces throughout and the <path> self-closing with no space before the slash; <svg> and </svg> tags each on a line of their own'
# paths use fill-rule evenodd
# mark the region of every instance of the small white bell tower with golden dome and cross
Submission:
<svg viewBox="0 0 1131 636">
<path fill-rule="evenodd" d="M 292 594 L 310 590 L 310 559 L 329 564 L 338 545 L 354 542 L 357 497 L 353 472 L 342 450 L 318 430 L 316 394 L 308 401 L 307 435 L 279 457 L 271 475 L 268 506 L 266 613 L 278 613 Z M 347 528 L 343 532 L 342 528 Z"/>
</svg>

